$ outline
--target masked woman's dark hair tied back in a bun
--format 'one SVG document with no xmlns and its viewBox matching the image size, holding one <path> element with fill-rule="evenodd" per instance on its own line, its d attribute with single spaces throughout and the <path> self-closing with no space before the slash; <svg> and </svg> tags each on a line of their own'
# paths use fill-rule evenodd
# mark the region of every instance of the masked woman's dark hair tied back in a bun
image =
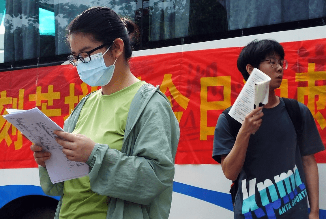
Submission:
<svg viewBox="0 0 326 219">
<path fill-rule="evenodd" d="M 131 57 L 131 41 L 139 38 L 138 26 L 129 19 L 120 18 L 108 7 L 88 8 L 70 22 L 67 30 L 67 41 L 74 33 L 90 34 L 94 40 L 108 46 L 116 38 L 122 39 L 127 61 Z"/>
</svg>

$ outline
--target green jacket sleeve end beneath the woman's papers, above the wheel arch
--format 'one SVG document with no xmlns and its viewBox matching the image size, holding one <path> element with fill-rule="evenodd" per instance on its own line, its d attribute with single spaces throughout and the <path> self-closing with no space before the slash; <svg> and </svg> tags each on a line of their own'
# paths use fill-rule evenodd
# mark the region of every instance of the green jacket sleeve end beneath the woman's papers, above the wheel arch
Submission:
<svg viewBox="0 0 326 219">
<path fill-rule="evenodd" d="M 50 180 L 50 176 L 45 167 L 39 166 L 40 184 L 45 194 L 51 196 L 62 196 L 63 195 L 63 182 L 53 184 Z"/>
</svg>

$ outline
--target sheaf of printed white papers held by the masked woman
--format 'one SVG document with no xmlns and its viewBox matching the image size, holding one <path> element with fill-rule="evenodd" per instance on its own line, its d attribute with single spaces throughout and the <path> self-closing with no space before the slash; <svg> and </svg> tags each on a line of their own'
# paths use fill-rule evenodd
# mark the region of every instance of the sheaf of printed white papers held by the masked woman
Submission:
<svg viewBox="0 0 326 219">
<path fill-rule="evenodd" d="M 45 161 L 45 165 L 52 183 L 88 175 L 86 163 L 70 161 L 62 153 L 62 146 L 55 140 L 58 135 L 55 135 L 53 131 L 63 131 L 63 129 L 41 110 L 35 107 L 28 110 L 7 109 L 7 112 L 9 114 L 3 117 L 8 122 L 21 131 L 33 144 L 51 153 L 51 158 Z"/>
</svg>

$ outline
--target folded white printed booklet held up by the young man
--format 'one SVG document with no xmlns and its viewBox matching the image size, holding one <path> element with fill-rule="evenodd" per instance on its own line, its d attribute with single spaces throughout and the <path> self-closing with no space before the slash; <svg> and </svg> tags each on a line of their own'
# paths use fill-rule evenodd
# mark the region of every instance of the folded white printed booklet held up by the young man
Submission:
<svg viewBox="0 0 326 219">
<path fill-rule="evenodd" d="M 242 124 L 244 117 L 253 109 L 267 104 L 270 81 L 271 78 L 267 74 L 254 68 L 232 105 L 229 115 Z"/>
</svg>

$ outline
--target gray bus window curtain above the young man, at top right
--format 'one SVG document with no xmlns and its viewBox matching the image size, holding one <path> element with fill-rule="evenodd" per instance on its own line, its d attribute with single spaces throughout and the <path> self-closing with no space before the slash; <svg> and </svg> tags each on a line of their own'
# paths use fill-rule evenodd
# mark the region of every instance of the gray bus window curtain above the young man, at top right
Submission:
<svg viewBox="0 0 326 219">
<path fill-rule="evenodd" d="M 325 0 L 226 0 L 229 30 L 326 16 Z"/>
</svg>

